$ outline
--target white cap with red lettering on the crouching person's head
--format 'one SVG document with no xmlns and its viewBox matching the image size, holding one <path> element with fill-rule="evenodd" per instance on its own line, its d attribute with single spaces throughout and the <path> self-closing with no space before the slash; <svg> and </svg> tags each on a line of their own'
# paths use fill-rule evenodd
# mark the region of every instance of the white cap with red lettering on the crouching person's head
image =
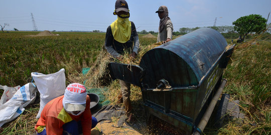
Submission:
<svg viewBox="0 0 271 135">
<path fill-rule="evenodd" d="M 69 84 L 64 93 L 63 107 L 67 111 L 81 111 L 86 108 L 86 88 L 80 83 Z"/>
</svg>

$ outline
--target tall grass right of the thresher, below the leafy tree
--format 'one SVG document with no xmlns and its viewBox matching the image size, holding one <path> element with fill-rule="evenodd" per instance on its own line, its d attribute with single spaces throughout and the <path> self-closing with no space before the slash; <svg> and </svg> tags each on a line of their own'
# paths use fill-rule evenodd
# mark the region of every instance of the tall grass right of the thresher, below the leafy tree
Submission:
<svg viewBox="0 0 271 135">
<path fill-rule="evenodd" d="M 224 89 L 231 99 L 240 100 L 245 114 L 243 124 L 234 121 L 218 130 L 219 134 L 269 134 L 271 130 L 271 45 L 269 40 L 251 39 L 237 44 L 225 70 Z"/>
</svg>

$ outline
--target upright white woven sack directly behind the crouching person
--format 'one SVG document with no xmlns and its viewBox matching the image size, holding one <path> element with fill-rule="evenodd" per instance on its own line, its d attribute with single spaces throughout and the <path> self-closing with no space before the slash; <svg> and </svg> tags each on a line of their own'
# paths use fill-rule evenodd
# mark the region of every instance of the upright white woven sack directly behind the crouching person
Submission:
<svg viewBox="0 0 271 135">
<path fill-rule="evenodd" d="M 40 110 L 36 116 L 36 118 L 40 118 L 41 112 L 46 103 L 64 94 L 66 89 L 65 69 L 62 68 L 58 72 L 51 74 L 32 72 L 31 76 L 35 80 L 40 92 Z"/>
</svg>

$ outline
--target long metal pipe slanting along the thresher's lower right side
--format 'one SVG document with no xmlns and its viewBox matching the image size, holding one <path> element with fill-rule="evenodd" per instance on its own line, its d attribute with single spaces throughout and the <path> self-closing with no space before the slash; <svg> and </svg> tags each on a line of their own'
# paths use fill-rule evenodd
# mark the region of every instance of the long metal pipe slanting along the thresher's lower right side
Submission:
<svg viewBox="0 0 271 135">
<path fill-rule="evenodd" d="M 210 116 L 214 110 L 214 107 L 215 107 L 215 104 L 218 100 L 218 98 L 220 97 L 220 94 L 223 90 L 223 88 L 225 87 L 225 84 L 227 83 L 227 80 L 226 79 L 223 79 L 219 88 L 217 89 L 214 97 L 212 98 L 207 110 L 205 111 L 203 117 L 201 118 L 199 124 L 198 124 L 198 128 L 203 131 L 206 124 L 208 123 L 208 120 L 210 119 Z M 200 132 L 198 130 L 196 130 L 193 134 L 200 134 Z"/>
</svg>

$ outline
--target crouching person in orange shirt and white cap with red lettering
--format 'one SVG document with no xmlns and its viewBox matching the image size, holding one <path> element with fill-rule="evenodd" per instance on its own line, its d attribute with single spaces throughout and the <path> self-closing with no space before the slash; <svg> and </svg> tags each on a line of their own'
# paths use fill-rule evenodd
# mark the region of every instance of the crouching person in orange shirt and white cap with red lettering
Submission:
<svg viewBox="0 0 271 135">
<path fill-rule="evenodd" d="M 35 129 L 38 134 L 90 134 L 96 124 L 85 86 L 71 83 L 64 95 L 45 105 Z"/>
</svg>

